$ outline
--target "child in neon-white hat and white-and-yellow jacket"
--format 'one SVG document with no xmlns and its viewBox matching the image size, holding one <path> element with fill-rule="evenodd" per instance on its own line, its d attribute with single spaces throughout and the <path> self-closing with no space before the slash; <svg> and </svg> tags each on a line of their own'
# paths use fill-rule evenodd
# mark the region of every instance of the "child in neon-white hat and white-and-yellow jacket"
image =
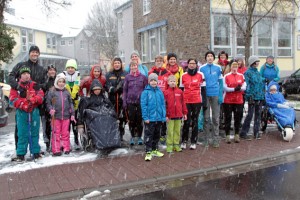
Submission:
<svg viewBox="0 0 300 200">
<path fill-rule="evenodd" d="M 66 70 L 64 71 L 64 75 L 66 76 L 66 89 L 70 92 L 74 110 L 75 110 L 75 121 L 77 116 L 77 108 L 79 103 L 79 85 L 80 85 L 80 73 L 77 70 L 77 63 L 76 60 L 70 59 L 66 63 Z M 74 133 L 74 142 L 75 142 L 75 150 L 79 150 L 79 142 L 78 142 L 78 132 L 75 121 L 72 121 L 70 124 L 70 130 L 71 126 L 73 128 Z"/>
</svg>

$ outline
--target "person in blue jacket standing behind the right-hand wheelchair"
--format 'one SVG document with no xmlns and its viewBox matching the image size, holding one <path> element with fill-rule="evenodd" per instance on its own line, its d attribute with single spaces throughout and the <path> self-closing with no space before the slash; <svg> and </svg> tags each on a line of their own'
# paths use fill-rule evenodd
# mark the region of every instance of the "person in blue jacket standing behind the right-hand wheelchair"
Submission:
<svg viewBox="0 0 300 200">
<path fill-rule="evenodd" d="M 279 67 L 275 64 L 273 56 L 266 58 L 266 62 L 260 67 L 259 73 L 266 83 L 279 81 Z"/>
</svg>

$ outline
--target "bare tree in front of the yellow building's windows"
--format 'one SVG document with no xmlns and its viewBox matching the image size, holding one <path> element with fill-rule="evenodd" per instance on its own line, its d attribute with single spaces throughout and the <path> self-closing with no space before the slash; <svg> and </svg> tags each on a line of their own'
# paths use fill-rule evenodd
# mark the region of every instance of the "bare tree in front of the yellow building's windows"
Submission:
<svg viewBox="0 0 300 200">
<path fill-rule="evenodd" d="M 298 7 L 296 0 L 220 0 L 219 3 L 229 5 L 230 15 L 244 37 L 246 62 L 250 56 L 254 26 L 265 17 L 286 15 L 293 6 Z"/>
</svg>

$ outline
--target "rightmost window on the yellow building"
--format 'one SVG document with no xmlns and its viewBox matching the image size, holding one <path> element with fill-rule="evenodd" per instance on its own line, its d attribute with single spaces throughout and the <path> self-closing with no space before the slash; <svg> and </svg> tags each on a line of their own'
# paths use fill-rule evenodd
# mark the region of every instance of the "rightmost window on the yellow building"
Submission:
<svg viewBox="0 0 300 200">
<path fill-rule="evenodd" d="M 292 56 L 292 23 L 278 22 L 278 56 Z"/>
</svg>

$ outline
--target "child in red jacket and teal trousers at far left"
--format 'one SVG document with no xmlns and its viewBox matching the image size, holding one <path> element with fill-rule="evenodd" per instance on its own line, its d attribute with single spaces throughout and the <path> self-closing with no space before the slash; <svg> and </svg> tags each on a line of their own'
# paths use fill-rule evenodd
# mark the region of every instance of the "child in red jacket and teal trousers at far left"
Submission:
<svg viewBox="0 0 300 200">
<path fill-rule="evenodd" d="M 33 154 L 34 158 L 41 157 L 39 145 L 40 112 L 37 107 L 43 103 L 44 97 L 43 90 L 35 89 L 36 83 L 30 78 L 29 67 L 20 68 L 19 74 L 19 90 L 12 88 L 10 91 L 10 101 L 17 109 L 17 157 L 13 159 L 17 162 L 25 160 L 28 143 L 30 153 Z"/>
</svg>

